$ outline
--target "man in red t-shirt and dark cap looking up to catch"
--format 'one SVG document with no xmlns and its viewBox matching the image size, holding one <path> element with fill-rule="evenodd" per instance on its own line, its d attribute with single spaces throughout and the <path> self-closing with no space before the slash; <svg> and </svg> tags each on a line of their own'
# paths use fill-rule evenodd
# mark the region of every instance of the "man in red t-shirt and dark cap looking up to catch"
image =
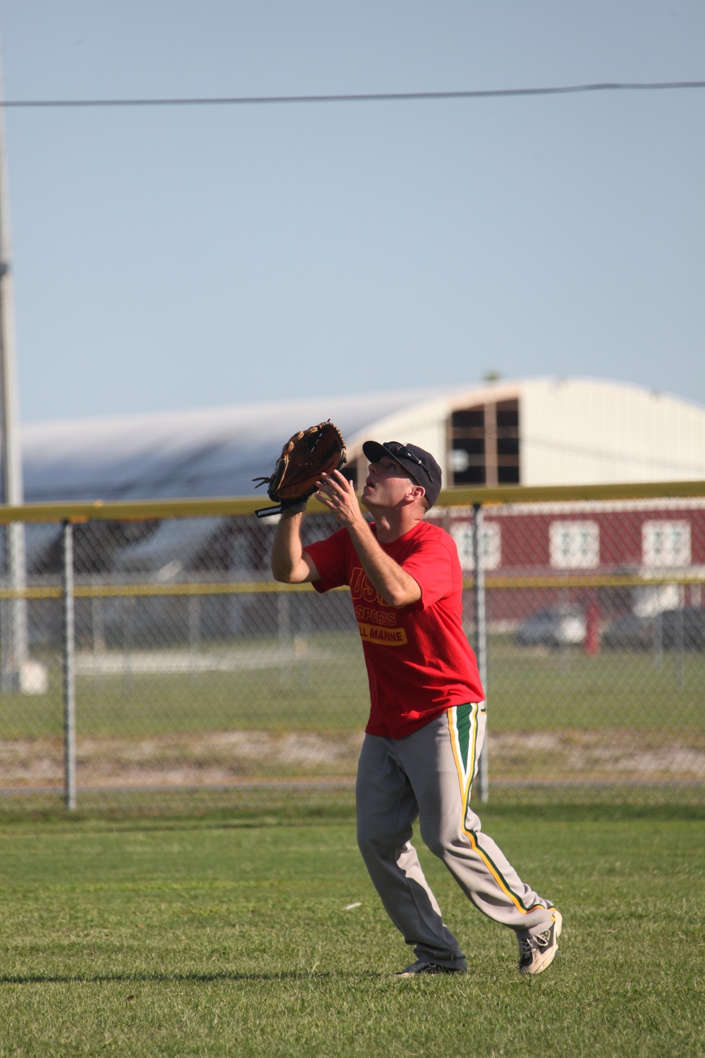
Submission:
<svg viewBox="0 0 705 1058">
<path fill-rule="evenodd" d="M 462 573 L 451 536 L 424 515 L 441 492 L 441 468 L 414 444 L 367 441 L 361 501 L 339 471 L 317 498 L 342 527 L 305 548 L 305 504 L 282 513 L 272 571 L 317 591 L 350 586 L 370 683 L 360 752 L 357 840 L 389 917 L 414 946 L 402 977 L 464 971 L 465 956 L 441 917 L 411 844 L 427 846 L 465 895 L 513 929 L 519 972 L 540 973 L 558 948 L 560 912 L 524 884 L 469 805 L 485 729 L 483 690 L 462 626 Z"/>
</svg>

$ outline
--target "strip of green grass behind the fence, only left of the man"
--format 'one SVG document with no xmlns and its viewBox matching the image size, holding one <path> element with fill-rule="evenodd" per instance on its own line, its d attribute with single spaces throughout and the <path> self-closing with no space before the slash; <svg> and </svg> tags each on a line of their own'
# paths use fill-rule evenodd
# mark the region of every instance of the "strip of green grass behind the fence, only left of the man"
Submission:
<svg viewBox="0 0 705 1058">
<path fill-rule="evenodd" d="M 252 640 L 253 652 L 276 640 Z M 242 649 L 242 647 L 241 647 Z M 369 712 L 367 673 L 353 636 L 314 637 L 321 659 L 284 662 L 281 668 L 234 672 L 141 675 L 86 675 L 76 678 L 79 734 L 164 734 L 173 731 L 351 730 L 364 727 Z M 222 646 L 205 652 L 227 655 Z M 182 658 L 187 651 L 174 651 Z M 141 652 L 135 651 L 137 658 Z M 168 656 L 168 652 L 165 652 Z M 115 652 L 120 658 L 120 652 Z M 40 737 L 60 732 L 62 674 L 60 659 L 42 659 L 49 669 L 49 691 L 32 697 L 0 694 L 0 730 L 5 737 Z M 335 673 L 335 682 L 331 674 Z"/>
</svg>

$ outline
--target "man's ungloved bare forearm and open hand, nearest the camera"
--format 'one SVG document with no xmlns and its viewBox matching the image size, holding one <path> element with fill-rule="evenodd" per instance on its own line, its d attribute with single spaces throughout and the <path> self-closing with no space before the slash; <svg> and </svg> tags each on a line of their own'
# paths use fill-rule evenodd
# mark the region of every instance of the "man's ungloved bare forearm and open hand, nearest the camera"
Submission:
<svg viewBox="0 0 705 1058">
<path fill-rule="evenodd" d="M 321 480 L 327 491 L 319 491 L 318 498 L 340 525 L 348 529 L 367 579 L 387 605 L 398 608 L 421 599 L 419 582 L 383 551 L 377 543 L 359 509 L 352 481 L 346 480 L 339 471 L 324 474 Z"/>
</svg>

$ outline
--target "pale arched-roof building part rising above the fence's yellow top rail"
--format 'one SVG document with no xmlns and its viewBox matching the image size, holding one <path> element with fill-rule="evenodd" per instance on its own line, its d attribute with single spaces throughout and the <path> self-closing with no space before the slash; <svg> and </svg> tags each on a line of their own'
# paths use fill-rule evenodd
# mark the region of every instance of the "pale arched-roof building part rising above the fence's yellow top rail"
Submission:
<svg viewBox="0 0 705 1058">
<path fill-rule="evenodd" d="M 252 496 L 297 430 L 332 419 L 431 451 L 453 485 L 705 479 L 705 407 L 639 386 L 534 378 L 22 426 L 26 501 Z M 359 466 L 357 463 L 359 462 Z"/>
</svg>

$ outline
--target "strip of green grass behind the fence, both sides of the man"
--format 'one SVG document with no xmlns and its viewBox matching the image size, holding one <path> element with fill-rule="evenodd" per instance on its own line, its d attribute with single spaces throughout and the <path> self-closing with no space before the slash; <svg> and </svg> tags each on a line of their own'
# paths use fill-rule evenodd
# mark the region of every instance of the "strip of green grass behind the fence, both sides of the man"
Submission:
<svg viewBox="0 0 705 1058">
<path fill-rule="evenodd" d="M 252 641 L 253 650 L 265 645 L 276 649 L 276 641 Z M 311 637 L 311 646 L 310 659 L 303 656 L 281 669 L 79 676 L 78 734 L 222 728 L 358 730 L 367 718 L 369 698 L 357 636 L 316 635 Z M 324 657 L 317 659 L 316 651 Z M 488 654 L 488 712 L 494 731 L 703 729 L 705 654 L 666 652 L 661 661 L 634 651 L 601 651 L 588 657 L 578 649 L 518 647 L 501 636 L 490 639 Z M 47 695 L 0 695 L 4 737 L 60 732 L 60 663 L 55 655 L 45 661 L 50 665 Z"/>
</svg>

